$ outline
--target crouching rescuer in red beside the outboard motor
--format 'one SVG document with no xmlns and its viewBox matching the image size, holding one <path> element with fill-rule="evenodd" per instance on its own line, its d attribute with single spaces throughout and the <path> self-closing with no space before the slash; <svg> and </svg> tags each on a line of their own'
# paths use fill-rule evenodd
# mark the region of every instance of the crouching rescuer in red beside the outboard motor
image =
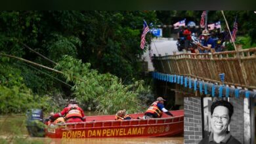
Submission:
<svg viewBox="0 0 256 144">
<path fill-rule="evenodd" d="M 51 115 L 53 118 L 65 117 L 66 122 L 85 122 L 83 109 L 77 105 L 75 99 L 71 99 L 68 107 L 65 107 L 60 113 Z"/>
</svg>

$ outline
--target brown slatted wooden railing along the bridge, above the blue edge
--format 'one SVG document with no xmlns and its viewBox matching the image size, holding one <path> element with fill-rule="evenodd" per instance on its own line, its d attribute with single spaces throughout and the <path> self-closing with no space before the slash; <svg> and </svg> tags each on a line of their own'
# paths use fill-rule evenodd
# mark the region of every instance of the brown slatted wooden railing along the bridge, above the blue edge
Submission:
<svg viewBox="0 0 256 144">
<path fill-rule="evenodd" d="M 153 58 L 160 73 L 184 75 L 209 82 L 256 89 L 256 48 L 207 54 L 174 54 Z"/>
</svg>

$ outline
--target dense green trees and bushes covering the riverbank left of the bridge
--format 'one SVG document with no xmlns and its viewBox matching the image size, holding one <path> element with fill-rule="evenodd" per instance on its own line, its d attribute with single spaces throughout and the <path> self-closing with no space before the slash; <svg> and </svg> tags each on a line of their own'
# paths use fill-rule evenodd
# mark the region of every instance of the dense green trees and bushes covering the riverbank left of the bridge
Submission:
<svg viewBox="0 0 256 144">
<path fill-rule="evenodd" d="M 1 54 L 56 67 L 64 75 L 1 56 L 0 114 L 31 107 L 60 111 L 70 98 L 105 114 L 143 111 L 137 103 L 149 89 L 140 81 L 142 20 L 155 24 L 156 12 L 1 11 Z"/>
</svg>

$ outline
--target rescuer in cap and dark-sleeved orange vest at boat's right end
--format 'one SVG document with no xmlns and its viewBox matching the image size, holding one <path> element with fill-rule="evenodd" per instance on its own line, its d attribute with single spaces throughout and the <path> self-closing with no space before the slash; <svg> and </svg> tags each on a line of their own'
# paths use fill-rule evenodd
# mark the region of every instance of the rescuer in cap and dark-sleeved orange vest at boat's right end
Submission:
<svg viewBox="0 0 256 144">
<path fill-rule="evenodd" d="M 146 113 L 144 115 L 144 118 L 161 118 L 162 113 L 165 113 L 169 116 L 173 117 L 173 114 L 171 114 L 167 109 L 165 109 L 163 103 L 165 99 L 158 97 L 152 105 L 146 110 Z"/>
</svg>

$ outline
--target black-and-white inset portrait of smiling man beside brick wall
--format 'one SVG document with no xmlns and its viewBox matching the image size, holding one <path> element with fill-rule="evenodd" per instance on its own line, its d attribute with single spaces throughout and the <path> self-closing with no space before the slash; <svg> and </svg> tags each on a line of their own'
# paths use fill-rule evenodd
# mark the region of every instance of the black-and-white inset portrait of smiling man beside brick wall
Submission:
<svg viewBox="0 0 256 144">
<path fill-rule="evenodd" d="M 184 143 L 255 141 L 254 98 L 184 98 Z"/>
</svg>

